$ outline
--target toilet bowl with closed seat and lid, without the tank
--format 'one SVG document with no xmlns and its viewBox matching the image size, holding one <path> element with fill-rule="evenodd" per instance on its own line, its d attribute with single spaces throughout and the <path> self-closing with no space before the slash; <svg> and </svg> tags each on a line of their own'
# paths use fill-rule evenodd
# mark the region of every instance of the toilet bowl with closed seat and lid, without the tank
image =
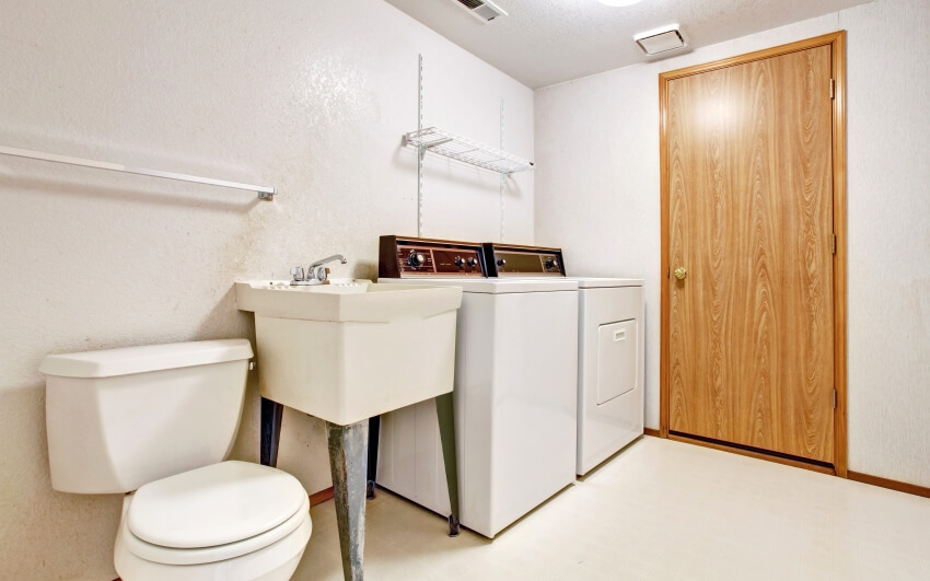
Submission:
<svg viewBox="0 0 930 581">
<path fill-rule="evenodd" d="M 311 530 L 297 478 L 222 462 L 127 495 L 114 561 L 127 581 L 290 579 Z"/>
</svg>

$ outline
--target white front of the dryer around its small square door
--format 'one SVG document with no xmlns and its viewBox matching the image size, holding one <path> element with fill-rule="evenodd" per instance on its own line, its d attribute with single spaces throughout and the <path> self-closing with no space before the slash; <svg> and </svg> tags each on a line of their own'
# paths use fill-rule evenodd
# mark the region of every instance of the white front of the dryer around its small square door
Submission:
<svg viewBox="0 0 930 581">
<path fill-rule="evenodd" d="M 644 306 L 641 287 L 583 289 L 580 297 L 578 474 L 611 457 L 642 434 L 644 415 Z M 597 404 L 598 330 L 602 325 L 635 321 L 636 386 Z"/>
</svg>

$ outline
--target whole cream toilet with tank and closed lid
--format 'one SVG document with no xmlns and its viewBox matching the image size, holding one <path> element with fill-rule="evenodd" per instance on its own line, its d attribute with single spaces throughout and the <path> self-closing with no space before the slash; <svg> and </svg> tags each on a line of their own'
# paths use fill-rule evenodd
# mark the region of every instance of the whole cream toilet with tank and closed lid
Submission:
<svg viewBox="0 0 930 581">
<path fill-rule="evenodd" d="M 114 562 L 124 581 L 286 580 L 312 530 L 293 476 L 222 462 L 242 412 L 246 339 L 48 356 L 51 486 L 132 492 Z"/>
</svg>

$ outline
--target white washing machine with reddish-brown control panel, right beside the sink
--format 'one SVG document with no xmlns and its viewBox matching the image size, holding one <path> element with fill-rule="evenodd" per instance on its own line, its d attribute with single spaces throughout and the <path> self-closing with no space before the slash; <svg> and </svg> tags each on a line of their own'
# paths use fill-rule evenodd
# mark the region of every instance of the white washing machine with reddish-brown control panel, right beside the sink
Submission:
<svg viewBox="0 0 930 581">
<path fill-rule="evenodd" d="M 578 283 L 488 278 L 479 243 L 382 236 L 379 282 L 462 287 L 453 408 L 462 525 L 489 538 L 574 481 Z M 411 351 L 405 365 L 428 364 Z M 381 417 L 376 483 L 450 513 L 435 406 Z"/>
</svg>

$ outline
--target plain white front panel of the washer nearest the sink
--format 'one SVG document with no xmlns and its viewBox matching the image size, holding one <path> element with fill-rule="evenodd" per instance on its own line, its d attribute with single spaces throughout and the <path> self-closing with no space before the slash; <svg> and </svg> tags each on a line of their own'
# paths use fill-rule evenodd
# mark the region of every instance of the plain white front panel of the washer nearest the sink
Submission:
<svg viewBox="0 0 930 581">
<path fill-rule="evenodd" d="M 578 293 L 496 303 L 491 382 L 492 532 L 574 481 Z"/>
</svg>

